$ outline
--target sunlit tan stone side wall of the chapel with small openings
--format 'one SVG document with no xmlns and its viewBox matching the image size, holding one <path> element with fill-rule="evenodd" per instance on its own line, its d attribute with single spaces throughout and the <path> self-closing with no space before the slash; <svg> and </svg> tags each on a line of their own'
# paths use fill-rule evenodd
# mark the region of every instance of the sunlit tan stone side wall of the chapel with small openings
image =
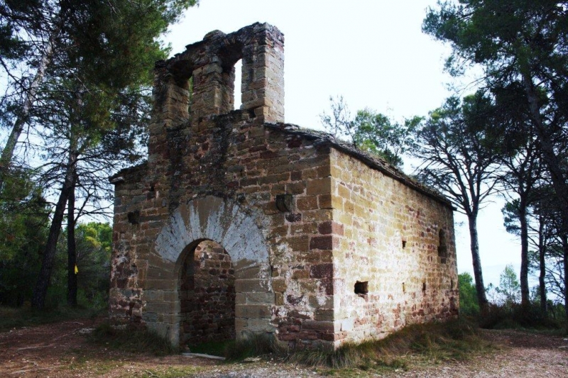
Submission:
<svg viewBox="0 0 568 378">
<path fill-rule="evenodd" d="M 332 150 L 337 341 L 383 338 L 458 314 L 452 209 Z M 451 235 L 442 242 L 439 232 Z M 356 294 L 357 282 L 366 293 Z"/>
</svg>

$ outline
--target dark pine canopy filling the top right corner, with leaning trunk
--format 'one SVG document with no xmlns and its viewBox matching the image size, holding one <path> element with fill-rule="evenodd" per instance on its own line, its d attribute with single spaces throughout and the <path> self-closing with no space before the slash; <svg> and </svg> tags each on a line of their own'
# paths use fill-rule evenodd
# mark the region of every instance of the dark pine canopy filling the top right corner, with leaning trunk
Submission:
<svg viewBox="0 0 568 378">
<path fill-rule="evenodd" d="M 503 106 L 527 109 L 568 235 L 568 1 L 459 0 L 430 9 L 423 30 L 450 43 L 447 69 L 478 65 Z M 564 243 L 564 273 L 568 243 Z M 568 306 L 567 316 L 568 316 Z"/>
</svg>

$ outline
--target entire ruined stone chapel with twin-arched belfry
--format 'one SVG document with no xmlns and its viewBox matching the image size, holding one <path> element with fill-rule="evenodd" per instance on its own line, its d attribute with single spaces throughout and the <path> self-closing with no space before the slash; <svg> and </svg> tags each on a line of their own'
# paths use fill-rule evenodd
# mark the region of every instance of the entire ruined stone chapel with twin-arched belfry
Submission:
<svg viewBox="0 0 568 378">
<path fill-rule="evenodd" d="M 148 160 L 111 177 L 111 316 L 174 344 L 297 347 L 457 316 L 451 205 L 284 123 L 283 42 L 256 23 L 156 63 Z"/>
</svg>

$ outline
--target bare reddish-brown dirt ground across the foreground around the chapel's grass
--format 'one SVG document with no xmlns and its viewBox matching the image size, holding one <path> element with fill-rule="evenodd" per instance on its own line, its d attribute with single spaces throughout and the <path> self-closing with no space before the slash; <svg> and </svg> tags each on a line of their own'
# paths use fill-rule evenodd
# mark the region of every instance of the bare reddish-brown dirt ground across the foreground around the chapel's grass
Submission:
<svg viewBox="0 0 568 378">
<path fill-rule="evenodd" d="M 0 333 L 0 377 L 322 377 L 377 376 L 349 370 L 296 367 L 273 362 L 224 364 L 182 355 L 134 355 L 87 342 L 97 321 L 78 320 Z M 512 330 L 484 331 L 498 345 L 467 362 L 417 365 L 397 377 L 568 377 L 568 339 Z"/>
</svg>

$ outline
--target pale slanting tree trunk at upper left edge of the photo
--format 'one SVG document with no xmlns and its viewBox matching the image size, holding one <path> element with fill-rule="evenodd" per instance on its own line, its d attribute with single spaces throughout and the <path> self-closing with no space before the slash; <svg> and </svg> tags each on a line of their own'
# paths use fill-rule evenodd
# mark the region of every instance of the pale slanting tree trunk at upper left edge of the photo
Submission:
<svg viewBox="0 0 568 378">
<path fill-rule="evenodd" d="M 9 171 L 13 151 L 16 149 L 16 143 L 18 143 L 18 139 L 23 131 L 23 126 L 26 125 L 26 122 L 28 122 L 28 119 L 30 118 L 31 108 L 35 101 L 35 95 L 38 93 L 38 88 L 41 82 L 43 82 L 45 70 L 48 68 L 53 57 L 53 43 L 58 33 L 59 29 L 53 31 L 50 35 L 48 44 L 40 59 L 38 70 L 35 72 L 35 76 L 33 77 L 30 87 L 27 89 L 26 93 L 23 94 L 26 98 L 23 100 L 22 107 L 16 117 L 16 121 L 13 123 L 6 145 L 2 150 L 2 155 L 0 157 L 0 188 L 4 185 L 4 177 Z"/>
</svg>

